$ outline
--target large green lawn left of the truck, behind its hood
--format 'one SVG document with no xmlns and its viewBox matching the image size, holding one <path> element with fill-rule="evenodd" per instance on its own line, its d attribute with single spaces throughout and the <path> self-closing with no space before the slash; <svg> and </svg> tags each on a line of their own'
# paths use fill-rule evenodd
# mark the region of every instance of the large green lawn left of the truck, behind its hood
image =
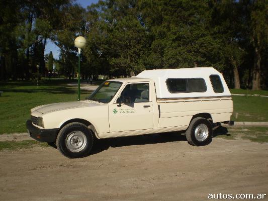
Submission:
<svg viewBox="0 0 268 201">
<path fill-rule="evenodd" d="M 39 86 L 32 82 L 0 82 L 0 134 L 26 132 L 30 109 L 36 106 L 77 100 L 77 88 L 68 80 L 45 80 Z M 91 92 L 81 90 L 81 100 Z"/>
</svg>

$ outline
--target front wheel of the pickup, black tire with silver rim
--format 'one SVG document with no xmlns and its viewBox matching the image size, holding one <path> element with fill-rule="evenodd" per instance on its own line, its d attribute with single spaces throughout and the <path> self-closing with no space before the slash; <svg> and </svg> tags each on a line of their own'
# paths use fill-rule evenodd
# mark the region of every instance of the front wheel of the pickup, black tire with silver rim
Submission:
<svg viewBox="0 0 268 201">
<path fill-rule="evenodd" d="M 93 132 L 84 124 L 74 122 L 65 125 L 57 136 L 56 145 L 61 154 L 67 158 L 87 156 L 93 146 Z"/>
</svg>

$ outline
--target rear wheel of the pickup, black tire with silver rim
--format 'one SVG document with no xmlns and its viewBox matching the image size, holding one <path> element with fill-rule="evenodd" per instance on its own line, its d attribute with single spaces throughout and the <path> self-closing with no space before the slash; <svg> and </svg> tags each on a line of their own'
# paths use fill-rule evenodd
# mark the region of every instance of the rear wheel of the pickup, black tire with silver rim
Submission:
<svg viewBox="0 0 268 201">
<path fill-rule="evenodd" d="M 212 140 L 211 123 L 202 117 L 197 117 L 192 120 L 187 131 L 186 138 L 189 144 L 194 146 L 204 146 Z"/>
</svg>

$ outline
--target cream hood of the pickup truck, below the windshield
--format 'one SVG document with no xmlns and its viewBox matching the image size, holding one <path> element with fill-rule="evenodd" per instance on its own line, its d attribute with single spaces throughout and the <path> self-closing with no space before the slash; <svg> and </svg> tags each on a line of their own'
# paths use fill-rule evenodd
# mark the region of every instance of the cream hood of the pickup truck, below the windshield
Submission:
<svg viewBox="0 0 268 201">
<path fill-rule="evenodd" d="M 33 108 L 32 110 L 37 111 L 37 112 L 42 113 L 42 114 L 45 114 L 45 113 L 51 113 L 51 112 L 60 111 L 60 110 L 93 107 L 93 106 L 100 106 L 100 105 L 101 104 L 91 102 L 91 101 L 74 101 L 74 102 L 66 102 L 66 103 L 57 103 L 57 104 L 38 106 L 36 108 Z"/>
</svg>

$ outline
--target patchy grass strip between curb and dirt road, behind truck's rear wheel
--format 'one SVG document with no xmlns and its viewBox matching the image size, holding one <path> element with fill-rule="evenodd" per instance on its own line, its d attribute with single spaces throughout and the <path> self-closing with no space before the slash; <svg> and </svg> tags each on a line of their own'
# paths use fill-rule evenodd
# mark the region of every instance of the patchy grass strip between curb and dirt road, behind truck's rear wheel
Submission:
<svg viewBox="0 0 268 201">
<path fill-rule="evenodd" d="M 215 138 L 226 140 L 246 139 L 252 142 L 268 143 L 267 127 L 219 127 L 213 132 Z"/>
</svg>

